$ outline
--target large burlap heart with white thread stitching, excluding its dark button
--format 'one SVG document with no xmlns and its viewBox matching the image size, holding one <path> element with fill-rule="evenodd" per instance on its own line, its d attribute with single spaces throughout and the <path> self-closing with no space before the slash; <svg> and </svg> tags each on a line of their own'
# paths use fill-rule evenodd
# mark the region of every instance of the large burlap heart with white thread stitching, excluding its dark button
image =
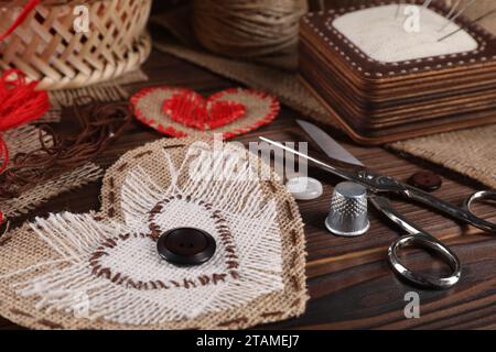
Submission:
<svg viewBox="0 0 496 352">
<path fill-rule="evenodd" d="M 108 169 L 101 202 L 1 238 L 0 316 L 36 329 L 239 329 L 304 311 L 298 206 L 239 144 L 163 139 L 131 151 Z M 183 227 L 214 238 L 208 262 L 160 257 L 155 234 Z"/>
</svg>

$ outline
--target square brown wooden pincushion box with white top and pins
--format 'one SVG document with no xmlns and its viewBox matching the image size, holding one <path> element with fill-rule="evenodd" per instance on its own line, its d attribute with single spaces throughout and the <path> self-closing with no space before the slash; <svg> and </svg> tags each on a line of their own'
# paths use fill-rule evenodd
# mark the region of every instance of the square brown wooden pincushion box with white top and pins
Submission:
<svg viewBox="0 0 496 352">
<path fill-rule="evenodd" d="M 302 80 L 358 143 L 496 122 L 496 38 L 463 15 L 450 21 L 441 2 L 412 3 L 302 20 Z"/>
</svg>

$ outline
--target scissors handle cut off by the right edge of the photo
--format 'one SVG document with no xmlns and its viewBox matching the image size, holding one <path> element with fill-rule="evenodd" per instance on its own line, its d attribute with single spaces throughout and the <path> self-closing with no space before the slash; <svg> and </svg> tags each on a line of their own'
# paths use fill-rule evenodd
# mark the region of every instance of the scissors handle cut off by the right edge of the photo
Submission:
<svg viewBox="0 0 496 352">
<path fill-rule="evenodd" d="M 455 207 L 442 199 L 439 199 L 434 196 L 431 196 L 418 188 L 406 186 L 405 194 L 408 198 L 420 201 L 421 204 L 424 204 L 429 207 L 432 207 L 439 211 L 442 211 L 443 213 L 461 220 L 465 223 L 470 223 L 481 230 L 484 230 L 486 232 L 496 233 L 496 223 L 486 221 L 484 219 L 481 219 L 479 217 L 475 216 L 472 210 L 470 209 L 470 206 L 475 201 L 479 199 L 496 199 L 496 191 L 482 191 L 476 193 L 473 195 L 468 200 L 465 202 L 465 206 L 463 208 Z"/>
</svg>

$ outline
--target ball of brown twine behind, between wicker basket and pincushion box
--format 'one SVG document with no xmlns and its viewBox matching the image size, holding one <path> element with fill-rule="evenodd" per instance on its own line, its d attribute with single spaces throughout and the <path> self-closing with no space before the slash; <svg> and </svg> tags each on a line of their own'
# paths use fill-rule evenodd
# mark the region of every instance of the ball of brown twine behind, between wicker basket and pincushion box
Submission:
<svg viewBox="0 0 496 352">
<path fill-rule="evenodd" d="M 229 57 L 293 51 L 306 0 L 194 0 L 193 29 L 207 50 Z"/>
</svg>

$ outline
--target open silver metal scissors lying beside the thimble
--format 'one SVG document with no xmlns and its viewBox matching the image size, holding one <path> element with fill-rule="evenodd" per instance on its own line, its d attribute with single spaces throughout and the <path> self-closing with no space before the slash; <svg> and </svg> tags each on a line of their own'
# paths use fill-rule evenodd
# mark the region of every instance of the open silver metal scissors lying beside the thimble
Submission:
<svg viewBox="0 0 496 352">
<path fill-rule="evenodd" d="M 355 158 L 348 151 L 342 147 L 327 133 L 316 125 L 298 120 L 300 127 L 309 134 L 313 141 L 328 156 L 328 162 L 319 161 L 306 154 L 300 153 L 285 145 L 260 136 L 260 140 L 280 147 L 289 153 L 299 155 L 317 167 L 339 176 L 346 180 L 355 182 L 368 189 L 370 202 L 387 218 L 393 221 L 408 232 L 396 240 L 388 250 L 388 260 L 393 271 L 406 278 L 408 282 L 429 288 L 445 289 L 452 287 L 460 280 L 462 268 L 456 254 L 440 242 L 435 237 L 422 230 L 419 226 L 406 219 L 391 206 L 390 201 L 384 197 L 387 194 L 400 195 L 407 199 L 421 202 L 432 209 L 435 209 L 451 218 L 470 223 L 486 232 L 496 233 L 496 224 L 478 218 L 472 212 L 471 206 L 478 200 L 496 199 L 496 191 L 478 191 L 468 197 L 463 207 L 455 207 L 442 199 L 427 194 L 418 188 L 406 185 L 390 176 L 375 173 L 364 166 L 362 162 Z M 416 273 L 405 266 L 398 256 L 398 250 L 417 246 L 425 251 L 434 251 L 440 258 L 450 265 L 452 273 L 444 277 L 434 277 Z"/>
</svg>

